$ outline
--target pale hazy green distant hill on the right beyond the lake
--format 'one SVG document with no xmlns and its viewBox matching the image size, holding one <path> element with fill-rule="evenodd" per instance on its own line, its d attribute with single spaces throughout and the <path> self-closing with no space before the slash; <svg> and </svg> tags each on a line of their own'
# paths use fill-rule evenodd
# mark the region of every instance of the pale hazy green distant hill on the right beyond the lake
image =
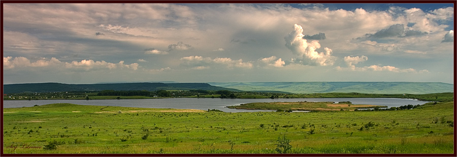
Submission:
<svg viewBox="0 0 457 157">
<path fill-rule="evenodd" d="M 453 84 L 440 82 L 209 82 L 209 84 L 245 91 L 283 91 L 292 93 L 425 94 L 454 91 Z"/>
</svg>

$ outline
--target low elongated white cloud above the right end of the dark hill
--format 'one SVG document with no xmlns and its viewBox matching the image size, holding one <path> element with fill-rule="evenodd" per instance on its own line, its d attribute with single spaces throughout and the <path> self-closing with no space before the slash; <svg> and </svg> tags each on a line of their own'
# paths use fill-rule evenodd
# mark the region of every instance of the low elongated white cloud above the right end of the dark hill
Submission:
<svg viewBox="0 0 457 157">
<path fill-rule="evenodd" d="M 209 69 L 210 67 L 222 66 L 228 69 L 242 68 L 242 69 L 251 69 L 252 63 L 243 62 L 243 59 L 232 60 L 232 58 L 214 58 L 211 57 L 202 57 L 202 56 L 188 56 L 180 58 L 181 65 L 192 67 L 192 69 Z"/>
</svg>

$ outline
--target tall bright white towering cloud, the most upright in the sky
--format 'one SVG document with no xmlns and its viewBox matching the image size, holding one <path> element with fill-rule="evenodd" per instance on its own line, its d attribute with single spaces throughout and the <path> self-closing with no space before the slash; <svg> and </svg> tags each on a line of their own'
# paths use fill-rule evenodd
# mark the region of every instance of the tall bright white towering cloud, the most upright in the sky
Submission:
<svg viewBox="0 0 457 157">
<path fill-rule="evenodd" d="M 316 49 L 320 48 L 318 41 L 313 40 L 308 43 L 306 39 L 303 39 L 305 35 L 302 34 L 302 26 L 295 24 L 292 28 L 294 30 L 284 37 L 284 40 L 285 46 L 298 56 L 293 59 L 294 61 L 312 66 L 331 66 L 334 64 L 336 57 L 331 55 L 332 49 L 325 47 L 325 53 L 317 52 Z"/>
</svg>

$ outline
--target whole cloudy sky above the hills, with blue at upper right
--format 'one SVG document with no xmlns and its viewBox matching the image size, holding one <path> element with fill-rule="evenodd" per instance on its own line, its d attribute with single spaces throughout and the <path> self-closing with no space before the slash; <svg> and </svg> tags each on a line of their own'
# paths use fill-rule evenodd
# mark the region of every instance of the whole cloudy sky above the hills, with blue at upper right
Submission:
<svg viewBox="0 0 457 157">
<path fill-rule="evenodd" d="M 453 4 L 4 4 L 4 84 L 453 83 Z"/>
</svg>

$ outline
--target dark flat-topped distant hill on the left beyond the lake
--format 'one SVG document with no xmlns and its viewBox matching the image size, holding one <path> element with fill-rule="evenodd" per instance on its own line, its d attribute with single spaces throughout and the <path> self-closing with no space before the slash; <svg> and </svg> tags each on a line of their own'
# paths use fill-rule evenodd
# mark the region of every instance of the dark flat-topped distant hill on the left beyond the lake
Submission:
<svg viewBox="0 0 457 157">
<path fill-rule="evenodd" d="M 238 89 L 212 86 L 208 83 L 99 83 L 99 84 L 64 84 L 64 83 L 25 83 L 5 84 L 4 93 L 21 92 L 59 92 L 59 91 L 100 91 L 100 90 L 231 90 Z"/>
</svg>

